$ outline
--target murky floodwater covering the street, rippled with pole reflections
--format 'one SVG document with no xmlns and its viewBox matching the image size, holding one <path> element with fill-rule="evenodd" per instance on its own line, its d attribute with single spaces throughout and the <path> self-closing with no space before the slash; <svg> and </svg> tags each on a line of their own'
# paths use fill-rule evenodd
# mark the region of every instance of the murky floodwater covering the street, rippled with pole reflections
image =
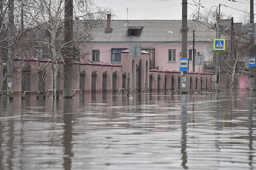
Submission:
<svg viewBox="0 0 256 170">
<path fill-rule="evenodd" d="M 0 170 L 253 170 L 251 91 L 0 102 Z"/>
</svg>

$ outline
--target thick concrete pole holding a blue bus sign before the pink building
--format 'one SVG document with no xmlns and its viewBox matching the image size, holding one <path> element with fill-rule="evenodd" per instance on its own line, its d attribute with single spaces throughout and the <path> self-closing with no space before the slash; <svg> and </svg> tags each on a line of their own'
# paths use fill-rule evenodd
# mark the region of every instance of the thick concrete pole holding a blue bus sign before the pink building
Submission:
<svg viewBox="0 0 256 170">
<path fill-rule="evenodd" d="M 181 28 L 181 58 L 188 58 L 188 3 L 187 0 L 182 0 L 182 28 Z M 189 65 L 189 64 L 188 64 Z M 182 88 L 181 93 L 188 93 L 188 85 L 187 85 L 187 71 L 180 72 L 182 79 Z"/>
</svg>

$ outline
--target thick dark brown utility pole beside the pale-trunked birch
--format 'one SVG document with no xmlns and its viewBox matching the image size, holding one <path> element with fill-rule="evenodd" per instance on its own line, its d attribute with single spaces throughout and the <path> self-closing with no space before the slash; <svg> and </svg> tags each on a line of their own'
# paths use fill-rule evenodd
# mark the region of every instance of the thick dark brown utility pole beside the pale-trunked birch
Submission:
<svg viewBox="0 0 256 170">
<path fill-rule="evenodd" d="M 63 97 L 73 97 L 73 0 L 65 0 Z"/>
</svg>

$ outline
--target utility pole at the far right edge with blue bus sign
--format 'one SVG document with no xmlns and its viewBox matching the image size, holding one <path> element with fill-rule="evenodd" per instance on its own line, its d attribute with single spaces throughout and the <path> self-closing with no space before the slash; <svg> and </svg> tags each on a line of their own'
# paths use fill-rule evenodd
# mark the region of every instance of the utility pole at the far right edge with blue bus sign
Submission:
<svg viewBox="0 0 256 170">
<path fill-rule="evenodd" d="M 250 0 L 250 23 L 254 23 L 254 11 L 253 11 L 253 0 Z M 250 56 L 254 56 L 254 38 L 253 34 L 250 35 Z M 249 67 L 250 69 L 250 90 L 255 90 L 255 67 Z"/>
</svg>

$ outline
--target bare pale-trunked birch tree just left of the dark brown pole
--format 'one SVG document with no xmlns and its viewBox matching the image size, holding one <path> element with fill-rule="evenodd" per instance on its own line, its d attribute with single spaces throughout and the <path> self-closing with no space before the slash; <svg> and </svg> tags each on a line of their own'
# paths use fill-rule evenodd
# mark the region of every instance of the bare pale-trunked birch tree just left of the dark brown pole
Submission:
<svg viewBox="0 0 256 170">
<path fill-rule="evenodd" d="M 93 0 L 74 0 L 74 15 L 65 18 L 65 6 L 65 0 L 31 0 L 24 10 L 26 20 L 33 28 L 26 32 L 23 42 L 34 48 L 35 52 L 39 50 L 42 55 L 47 54 L 47 57 L 52 59 L 55 97 L 58 96 L 58 75 L 62 71 L 58 62 L 64 61 L 64 50 L 70 46 L 76 50 L 79 43 L 89 42 L 92 39 L 92 29 L 102 23 L 108 13 L 107 10 L 95 6 Z M 64 23 L 67 20 L 74 21 L 74 36 L 73 40 L 65 42 Z M 73 58 L 80 60 L 79 53 L 72 52 Z M 65 64 L 67 63 L 64 62 Z"/>
</svg>

